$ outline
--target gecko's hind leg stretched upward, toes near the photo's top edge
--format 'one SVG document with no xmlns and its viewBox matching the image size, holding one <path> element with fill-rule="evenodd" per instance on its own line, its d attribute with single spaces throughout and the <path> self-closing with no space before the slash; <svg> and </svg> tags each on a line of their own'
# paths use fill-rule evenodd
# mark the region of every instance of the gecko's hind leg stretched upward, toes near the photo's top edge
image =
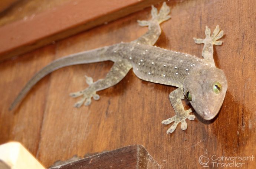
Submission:
<svg viewBox="0 0 256 169">
<path fill-rule="evenodd" d="M 151 6 L 151 7 L 152 7 L 151 20 L 149 21 L 138 20 L 138 23 L 140 26 L 142 27 L 148 26 L 148 31 L 144 35 L 142 35 L 140 38 L 132 42 L 145 44 L 145 45 L 154 45 L 161 34 L 160 24 L 171 18 L 170 15 L 168 15 L 170 13 L 170 7 L 167 6 L 166 2 L 163 3 L 163 6 L 161 7 L 159 13 L 156 7 L 154 6 Z"/>
</svg>

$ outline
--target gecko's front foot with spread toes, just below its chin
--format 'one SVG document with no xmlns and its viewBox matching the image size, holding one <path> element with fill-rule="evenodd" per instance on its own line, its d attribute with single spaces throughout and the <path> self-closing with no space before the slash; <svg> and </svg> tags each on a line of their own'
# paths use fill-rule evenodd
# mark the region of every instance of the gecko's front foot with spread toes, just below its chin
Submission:
<svg viewBox="0 0 256 169">
<path fill-rule="evenodd" d="M 172 133 L 174 132 L 174 130 L 176 129 L 177 125 L 181 122 L 181 129 L 182 130 L 186 130 L 187 129 L 187 122 L 186 119 L 188 118 L 189 120 L 195 120 L 195 116 L 192 114 L 189 114 L 192 112 L 192 109 L 188 109 L 185 110 L 184 113 L 182 114 L 176 114 L 171 118 L 168 118 L 167 120 L 163 120 L 162 124 L 170 124 L 174 121 L 173 125 L 167 130 L 167 134 L 168 133 Z"/>
</svg>

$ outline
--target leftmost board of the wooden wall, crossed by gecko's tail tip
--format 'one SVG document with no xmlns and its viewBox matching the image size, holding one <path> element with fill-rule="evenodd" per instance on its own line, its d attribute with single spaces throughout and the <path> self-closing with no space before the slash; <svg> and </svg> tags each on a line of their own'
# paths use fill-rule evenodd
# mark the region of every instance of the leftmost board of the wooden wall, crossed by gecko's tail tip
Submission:
<svg viewBox="0 0 256 169">
<path fill-rule="evenodd" d="M 36 155 L 40 141 L 49 77 L 35 85 L 21 106 L 9 111 L 9 106 L 27 81 L 43 66 L 53 60 L 55 46 L 30 52 L 1 63 L 0 66 L 0 144 L 15 140 Z"/>
</svg>

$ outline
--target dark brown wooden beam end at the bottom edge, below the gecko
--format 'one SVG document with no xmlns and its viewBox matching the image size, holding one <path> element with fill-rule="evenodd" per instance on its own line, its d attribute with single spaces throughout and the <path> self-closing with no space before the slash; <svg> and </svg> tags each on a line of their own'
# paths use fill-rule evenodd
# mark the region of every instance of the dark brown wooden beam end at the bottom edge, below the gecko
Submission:
<svg viewBox="0 0 256 169">
<path fill-rule="evenodd" d="M 50 169 L 78 168 L 160 169 L 160 166 L 142 145 L 130 145 Z"/>
</svg>

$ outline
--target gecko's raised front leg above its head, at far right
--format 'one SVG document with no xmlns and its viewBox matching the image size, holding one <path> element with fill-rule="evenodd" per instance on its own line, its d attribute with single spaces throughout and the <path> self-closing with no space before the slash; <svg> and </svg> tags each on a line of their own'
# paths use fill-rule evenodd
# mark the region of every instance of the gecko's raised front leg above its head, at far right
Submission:
<svg viewBox="0 0 256 169">
<path fill-rule="evenodd" d="M 220 31 L 219 25 L 216 26 L 212 35 L 211 35 L 211 30 L 206 26 L 206 30 L 205 30 L 206 38 L 205 39 L 194 38 L 194 41 L 196 44 L 204 44 L 202 56 L 204 57 L 204 59 L 210 62 L 212 66 L 215 66 L 215 63 L 213 60 L 213 45 L 219 46 L 222 44 L 222 41 L 217 41 L 217 40 L 222 38 L 223 34 L 224 34 L 224 31 Z"/>
</svg>

